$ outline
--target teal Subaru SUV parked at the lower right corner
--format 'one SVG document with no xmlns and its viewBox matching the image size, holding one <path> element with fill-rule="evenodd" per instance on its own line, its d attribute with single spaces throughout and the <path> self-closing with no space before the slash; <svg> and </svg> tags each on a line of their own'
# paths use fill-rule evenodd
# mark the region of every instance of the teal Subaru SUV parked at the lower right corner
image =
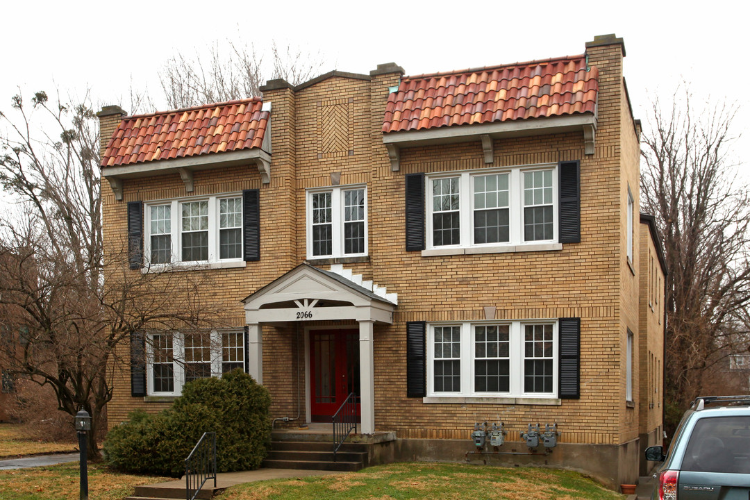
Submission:
<svg viewBox="0 0 750 500">
<path fill-rule="evenodd" d="M 750 500 L 750 396 L 698 397 L 664 455 L 652 500 Z"/>
</svg>

